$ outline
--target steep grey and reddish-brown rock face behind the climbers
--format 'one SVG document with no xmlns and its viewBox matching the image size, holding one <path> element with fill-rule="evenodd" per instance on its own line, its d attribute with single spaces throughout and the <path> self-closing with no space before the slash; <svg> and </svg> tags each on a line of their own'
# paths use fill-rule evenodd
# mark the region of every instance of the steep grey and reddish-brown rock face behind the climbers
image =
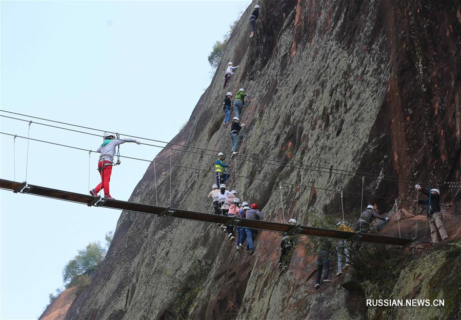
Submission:
<svg viewBox="0 0 461 320">
<path fill-rule="evenodd" d="M 335 190 L 344 191 L 345 218 L 354 222 L 362 186 L 363 207 L 376 203 L 384 214 L 395 210 L 396 197 L 415 199 L 416 182 L 427 187 L 432 181 L 442 201 L 451 202 L 444 207 L 449 235 L 459 236 L 461 196 L 452 200 L 456 189 L 444 183 L 461 179 L 459 3 L 265 0 L 249 38 L 255 3 L 238 22 L 188 124 L 168 146 L 177 150 L 156 156 L 156 178 L 152 164 L 130 201 L 155 204 L 157 190 L 158 205 L 211 213 L 207 195 L 215 154 L 231 147 L 230 129 L 221 128 L 222 101 L 228 90 L 244 87 L 251 103 L 243 111 L 246 139 L 239 154 L 253 158 L 228 158 L 231 173 L 238 175 L 228 185 L 238 197 L 257 202 L 271 221 L 295 217 L 305 225 L 321 221 L 334 228 L 331 223 L 342 219 Z M 228 61 L 239 68 L 223 90 Z M 171 171 L 170 157 L 177 165 Z M 415 211 L 409 202 L 398 208 Z M 416 220 L 399 225 L 395 215 L 392 220 L 383 234 L 398 236 L 399 226 L 403 236 L 414 236 Z M 235 252 L 219 230 L 123 212 L 105 261 L 66 318 L 461 316 L 459 242 L 399 249 L 387 257 L 393 265 L 364 265 L 315 290 L 308 239 L 296 247 L 290 272 L 280 274 L 274 269 L 280 234 L 260 233 L 250 257 Z M 429 239 L 425 223 L 419 223 L 417 236 Z M 343 283 L 355 285 L 346 285 L 348 291 Z M 365 305 L 365 298 L 444 297 L 450 306 L 427 312 Z"/>
</svg>

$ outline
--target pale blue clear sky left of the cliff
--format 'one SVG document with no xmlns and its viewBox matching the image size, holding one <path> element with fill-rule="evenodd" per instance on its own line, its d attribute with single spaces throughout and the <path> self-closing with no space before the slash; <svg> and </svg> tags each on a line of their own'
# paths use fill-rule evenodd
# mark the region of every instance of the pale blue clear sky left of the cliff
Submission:
<svg viewBox="0 0 461 320">
<path fill-rule="evenodd" d="M 1 2 L 1 109 L 169 141 L 210 83 L 207 56 L 250 1 Z M 1 113 L 5 114 L 5 113 Z M 6 115 L 6 114 L 5 114 Z M 27 117 L 23 117 L 29 119 Z M 32 119 L 33 120 L 33 119 Z M 0 118 L 2 132 L 27 123 Z M 32 124 L 30 136 L 85 149 L 97 137 Z M 0 135 L 2 178 L 25 180 L 27 142 Z M 121 154 L 159 150 L 124 144 Z M 97 155 L 31 142 L 27 181 L 87 193 Z M 125 159 L 111 194 L 127 199 L 148 163 Z M 89 174 L 90 171 L 90 174 Z M 0 191 L 0 317 L 35 319 L 62 269 L 89 242 L 104 243 L 120 212 Z"/>
</svg>

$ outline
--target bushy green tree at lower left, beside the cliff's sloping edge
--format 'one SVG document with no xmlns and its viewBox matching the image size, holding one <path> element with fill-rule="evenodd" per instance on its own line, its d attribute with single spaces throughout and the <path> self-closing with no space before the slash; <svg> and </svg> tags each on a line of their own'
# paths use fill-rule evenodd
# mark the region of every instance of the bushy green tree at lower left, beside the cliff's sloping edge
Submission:
<svg viewBox="0 0 461 320">
<path fill-rule="evenodd" d="M 84 250 L 78 250 L 78 254 L 67 263 L 63 270 L 63 281 L 66 288 L 72 285 L 83 274 L 93 273 L 97 265 L 106 255 L 107 249 L 99 242 L 92 242 Z"/>
</svg>

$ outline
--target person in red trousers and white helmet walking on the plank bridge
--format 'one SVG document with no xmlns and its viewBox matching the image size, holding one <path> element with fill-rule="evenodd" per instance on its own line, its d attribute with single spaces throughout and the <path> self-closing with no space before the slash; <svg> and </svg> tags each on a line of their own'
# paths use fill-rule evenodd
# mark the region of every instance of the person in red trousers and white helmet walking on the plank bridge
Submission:
<svg viewBox="0 0 461 320">
<path fill-rule="evenodd" d="M 97 148 L 96 152 L 101 153 L 99 156 L 99 162 L 97 164 L 97 170 L 99 171 L 99 174 L 101 174 L 101 183 L 99 183 L 94 189 L 90 190 L 90 194 L 92 196 L 97 196 L 99 191 L 101 189 L 104 189 L 104 197 L 106 199 L 113 199 L 113 197 L 110 195 L 110 188 L 109 188 L 109 182 L 110 182 L 110 176 L 112 174 L 112 166 L 113 166 L 113 161 L 114 161 L 114 156 L 115 156 L 115 147 L 119 146 L 123 143 L 126 142 L 134 142 L 138 145 L 141 144 L 136 139 L 132 138 L 115 138 L 115 133 L 104 133 L 104 142 L 103 144 Z"/>
</svg>

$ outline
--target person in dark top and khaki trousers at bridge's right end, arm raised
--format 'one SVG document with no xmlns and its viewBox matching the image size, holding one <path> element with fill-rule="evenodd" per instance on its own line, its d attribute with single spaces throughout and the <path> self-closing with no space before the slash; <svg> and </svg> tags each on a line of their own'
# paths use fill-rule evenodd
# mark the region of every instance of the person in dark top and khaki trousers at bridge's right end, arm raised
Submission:
<svg viewBox="0 0 461 320">
<path fill-rule="evenodd" d="M 442 212 L 440 211 L 440 190 L 431 189 L 429 193 L 428 190 L 421 188 L 420 185 L 416 185 L 415 189 L 420 190 L 423 194 L 428 196 L 427 200 L 421 199 L 418 201 L 418 204 L 426 205 L 427 222 L 431 229 L 432 243 L 438 243 L 437 230 L 442 241 L 446 241 L 448 239 L 448 234 L 445 230 Z M 414 202 L 416 202 L 416 200 Z"/>
</svg>

